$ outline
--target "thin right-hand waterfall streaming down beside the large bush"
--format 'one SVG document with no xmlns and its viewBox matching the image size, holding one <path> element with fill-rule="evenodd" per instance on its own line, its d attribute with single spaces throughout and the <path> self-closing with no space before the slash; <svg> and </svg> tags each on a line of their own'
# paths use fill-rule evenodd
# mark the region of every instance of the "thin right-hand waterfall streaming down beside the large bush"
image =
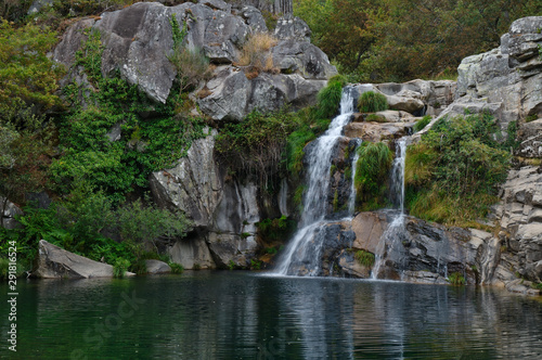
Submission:
<svg viewBox="0 0 542 360">
<path fill-rule="evenodd" d="M 393 205 L 399 208 L 399 211 L 393 215 L 393 220 L 376 246 L 375 263 L 371 271 L 371 279 L 378 279 L 378 271 L 386 257 L 397 257 L 398 261 L 396 262 L 399 262 L 402 257 L 400 237 L 404 232 L 404 159 L 406 157 L 406 140 L 408 137 L 403 137 L 396 142 L 396 158 L 391 166 L 389 196 Z M 386 245 L 388 245 L 387 250 Z"/>
</svg>

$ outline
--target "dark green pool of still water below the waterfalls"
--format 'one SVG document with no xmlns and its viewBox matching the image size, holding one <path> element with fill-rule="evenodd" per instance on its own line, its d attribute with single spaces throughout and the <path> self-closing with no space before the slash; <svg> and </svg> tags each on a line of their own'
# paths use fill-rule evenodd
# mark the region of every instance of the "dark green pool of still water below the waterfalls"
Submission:
<svg viewBox="0 0 542 360">
<path fill-rule="evenodd" d="M 238 271 L 17 287 L 2 359 L 542 358 L 542 303 L 499 290 Z"/>
</svg>

